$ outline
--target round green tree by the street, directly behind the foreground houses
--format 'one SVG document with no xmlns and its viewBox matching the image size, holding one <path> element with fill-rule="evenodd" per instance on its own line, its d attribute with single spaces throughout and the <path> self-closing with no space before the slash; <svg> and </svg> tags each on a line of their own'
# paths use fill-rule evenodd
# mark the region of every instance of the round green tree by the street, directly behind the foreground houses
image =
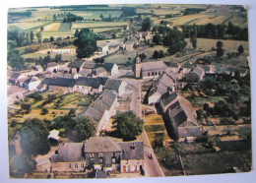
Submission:
<svg viewBox="0 0 256 183">
<path fill-rule="evenodd" d="M 133 111 L 118 112 L 113 120 L 112 128 L 125 141 L 135 140 L 143 132 L 144 122 Z"/>
</svg>

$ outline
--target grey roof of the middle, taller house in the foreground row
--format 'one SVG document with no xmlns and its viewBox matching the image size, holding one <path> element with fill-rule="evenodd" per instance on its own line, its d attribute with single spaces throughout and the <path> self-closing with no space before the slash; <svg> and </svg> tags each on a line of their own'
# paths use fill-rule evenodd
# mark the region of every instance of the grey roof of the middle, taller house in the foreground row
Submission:
<svg viewBox="0 0 256 183">
<path fill-rule="evenodd" d="M 85 144 L 85 152 L 121 152 L 121 148 L 109 137 L 91 137 Z"/>
</svg>

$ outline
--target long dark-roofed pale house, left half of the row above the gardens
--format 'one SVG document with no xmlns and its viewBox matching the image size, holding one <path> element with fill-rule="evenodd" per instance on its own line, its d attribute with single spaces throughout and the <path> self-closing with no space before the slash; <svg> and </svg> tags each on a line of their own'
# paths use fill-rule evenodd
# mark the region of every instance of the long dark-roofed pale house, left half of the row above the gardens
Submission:
<svg viewBox="0 0 256 183">
<path fill-rule="evenodd" d="M 48 91 L 73 92 L 75 79 L 71 78 L 54 78 L 47 81 Z"/>
</svg>

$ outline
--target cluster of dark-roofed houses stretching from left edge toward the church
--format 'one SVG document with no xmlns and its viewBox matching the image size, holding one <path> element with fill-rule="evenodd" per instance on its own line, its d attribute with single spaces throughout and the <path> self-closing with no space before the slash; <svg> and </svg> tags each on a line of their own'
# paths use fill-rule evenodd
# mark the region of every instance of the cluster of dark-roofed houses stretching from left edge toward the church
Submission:
<svg viewBox="0 0 256 183">
<path fill-rule="evenodd" d="M 101 92 L 107 77 L 117 74 L 116 64 L 81 60 L 64 65 L 51 62 L 44 69 L 37 65 L 28 71 L 8 72 L 8 103 L 22 99 L 24 91 Z"/>
</svg>

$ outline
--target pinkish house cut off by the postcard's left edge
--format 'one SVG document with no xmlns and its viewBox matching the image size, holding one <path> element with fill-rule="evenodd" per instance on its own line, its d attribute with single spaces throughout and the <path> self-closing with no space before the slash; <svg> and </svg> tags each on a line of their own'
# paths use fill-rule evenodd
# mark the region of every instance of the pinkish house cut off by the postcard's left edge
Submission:
<svg viewBox="0 0 256 183">
<path fill-rule="evenodd" d="M 18 86 L 8 86 L 7 88 L 7 96 L 8 96 L 8 104 L 12 104 L 15 101 L 23 99 L 23 88 Z"/>
</svg>

